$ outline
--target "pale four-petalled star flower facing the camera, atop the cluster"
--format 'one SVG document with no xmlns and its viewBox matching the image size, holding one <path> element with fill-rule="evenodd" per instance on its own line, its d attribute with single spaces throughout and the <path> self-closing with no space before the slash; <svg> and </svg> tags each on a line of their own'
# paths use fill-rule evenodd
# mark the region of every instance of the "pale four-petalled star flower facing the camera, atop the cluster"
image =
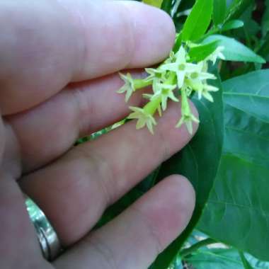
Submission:
<svg viewBox="0 0 269 269">
<path fill-rule="evenodd" d="M 184 84 L 185 75 L 195 70 L 195 64 L 190 64 L 186 60 L 186 51 L 183 46 L 176 53 L 176 62 L 171 64 L 162 64 L 159 67 L 161 70 L 169 70 L 176 72 L 178 80 L 178 88 Z"/>
</svg>

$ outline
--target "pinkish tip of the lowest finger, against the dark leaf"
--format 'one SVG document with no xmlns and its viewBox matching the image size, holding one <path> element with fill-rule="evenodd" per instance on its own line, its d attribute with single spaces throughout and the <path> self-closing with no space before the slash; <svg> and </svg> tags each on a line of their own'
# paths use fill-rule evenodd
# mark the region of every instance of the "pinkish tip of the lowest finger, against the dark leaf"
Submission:
<svg viewBox="0 0 269 269">
<path fill-rule="evenodd" d="M 179 175 L 165 178 L 136 204 L 147 214 L 163 251 L 187 227 L 195 208 L 195 190 Z"/>
</svg>

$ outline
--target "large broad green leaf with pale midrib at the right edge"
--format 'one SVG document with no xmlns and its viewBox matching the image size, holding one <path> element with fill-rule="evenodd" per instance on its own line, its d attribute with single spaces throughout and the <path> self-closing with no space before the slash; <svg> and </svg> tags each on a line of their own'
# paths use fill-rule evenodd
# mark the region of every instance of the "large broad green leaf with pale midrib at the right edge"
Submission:
<svg viewBox="0 0 269 269">
<path fill-rule="evenodd" d="M 225 81 L 225 139 L 199 228 L 269 260 L 269 69 Z"/>
</svg>

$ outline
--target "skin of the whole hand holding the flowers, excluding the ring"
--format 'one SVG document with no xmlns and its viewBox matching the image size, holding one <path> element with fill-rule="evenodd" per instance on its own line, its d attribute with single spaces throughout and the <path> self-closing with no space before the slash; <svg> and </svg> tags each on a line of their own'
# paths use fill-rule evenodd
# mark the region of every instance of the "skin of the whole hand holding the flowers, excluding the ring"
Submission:
<svg viewBox="0 0 269 269">
<path fill-rule="evenodd" d="M 147 268 L 188 224 L 195 193 L 165 178 L 119 217 L 91 231 L 105 208 L 191 137 L 171 104 L 155 134 L 135 122 L 74 141 L 124 118 L 118 71 L 168 56 L 175 36 L 163 11 L 132 1 L 1 0 L 0 257 L 2 268 Z M 197 111 L 193 107 L 193 113 Z M 195 125 L 194 129 L 197 130 Z M 48 263 L 23 192 L 42 208 L 65 251 Z"/>
</svg>

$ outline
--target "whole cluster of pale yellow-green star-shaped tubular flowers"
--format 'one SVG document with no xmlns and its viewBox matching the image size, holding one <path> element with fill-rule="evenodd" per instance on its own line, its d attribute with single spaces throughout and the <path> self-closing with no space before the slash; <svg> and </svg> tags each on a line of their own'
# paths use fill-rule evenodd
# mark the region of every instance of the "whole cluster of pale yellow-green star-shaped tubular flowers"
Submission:
<svg viewBox="0 0 269 269">
<path fill-rule="evenodd" d="M 181 118 L 176 127 L 185 124 L 188 132 L 193 132 L 193 122 L 199 122 L 190 110 L 188 97 L 193 93 L 198 94 L 198 98 L 206 98 L 213 102 L 211 92 L 219 89 L 207 84 L 207 80 L 216 79 L 214 74 L 207 71 L 208 62 L 214 64 L 217 58 L 224 59 L 222 47 L 217 49 L 201 62 L 191 62 L 188 55 L 188 48 L 181 46 L 178 52 L 171 52 L 170 57 L 166 59 L 158 68 L 146 68 L 149 74 L 146 79 L 133 79 L 128 73 L 120 74 L 125 81 L 124 86 L 118 93 L 126 93 L 127 102 L 135 91 L 151 86 L 152 94 L 144 94 L 144 98 L 149 101 L 143 108 L 130 107 L 132 113 L 129 119 L 137 119 L 137 129 L 147 126 L 149 131 L 154 133 L 154 125 L 157 124 L 154 115 L 161 110 L 166 110 L 168 99 L 179 102 L 181 99 Z"/>
</svg>

